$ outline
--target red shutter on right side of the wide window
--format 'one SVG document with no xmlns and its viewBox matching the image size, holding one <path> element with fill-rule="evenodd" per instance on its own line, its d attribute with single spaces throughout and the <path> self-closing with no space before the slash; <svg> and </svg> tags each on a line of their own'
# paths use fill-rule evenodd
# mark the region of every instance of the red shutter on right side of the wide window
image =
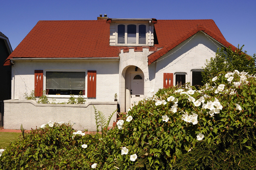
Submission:
<svg viewBox="0 0 256 170">
<path fill-rule="evenodd" d="M 96 97 L 96 71 L 88 70 L 87 97 Z"/>
</svg>

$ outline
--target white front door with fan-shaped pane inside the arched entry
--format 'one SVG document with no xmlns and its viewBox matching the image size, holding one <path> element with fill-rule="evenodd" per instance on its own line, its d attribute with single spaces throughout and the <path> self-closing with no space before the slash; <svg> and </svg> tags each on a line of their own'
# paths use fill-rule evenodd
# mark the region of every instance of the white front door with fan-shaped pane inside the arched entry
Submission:
<svg viewBox="0 0 256 170">
<path fill-rule="evenodd" d="M 142 74 L 131 73 L 131 107 L 144 98 L 144 81 Z"/>
</svg>

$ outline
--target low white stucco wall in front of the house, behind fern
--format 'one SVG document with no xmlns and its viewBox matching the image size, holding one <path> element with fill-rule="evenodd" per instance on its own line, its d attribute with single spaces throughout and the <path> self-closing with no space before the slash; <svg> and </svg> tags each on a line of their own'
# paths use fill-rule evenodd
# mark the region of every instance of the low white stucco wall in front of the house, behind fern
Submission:
<svg viewBox="0 0 256 170">
<path fill-rule="evenodd" d="M 84 105 L 39 104 L 32 100 L 4 101 L 4 128 L 24 129 L 39 128 L 49 121 L 71 122 L 74 129 L 96 131 L 94 107 L 108 118 L 117 109 L 117 102 L 86 102 Z M 114 113 L 110 126 L 116 121 Z"/>
</svg>

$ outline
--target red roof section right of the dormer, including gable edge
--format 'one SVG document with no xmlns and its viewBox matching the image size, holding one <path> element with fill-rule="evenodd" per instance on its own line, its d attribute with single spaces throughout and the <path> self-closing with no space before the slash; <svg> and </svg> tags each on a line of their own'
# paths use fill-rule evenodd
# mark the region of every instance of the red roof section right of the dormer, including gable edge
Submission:
<svg viewBox="0 0 256 170">
<path fill-rule="evenodd" d="M 226 47 L 231 46 L 233 51 L 236 49 L 226 41 L 212 19 L 158 20 L 154 28 L 156 30 L 154 45 L 161 49 L 148 56 L 149 65 L 199 31 L 203 31 Z"/>
</svg>

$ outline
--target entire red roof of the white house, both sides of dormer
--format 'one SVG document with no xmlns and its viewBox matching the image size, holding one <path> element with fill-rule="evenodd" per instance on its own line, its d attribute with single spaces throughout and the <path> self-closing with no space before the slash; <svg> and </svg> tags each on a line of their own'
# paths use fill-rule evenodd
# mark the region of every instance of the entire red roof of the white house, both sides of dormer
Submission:
<svg viewBox="0 0 256 170">
<path fill-rule="evenodd" d="M 154 46 L 162 49 L 148 56 L 148 64 L 198 31 L 226 47 L 232 46 L 211 19 L 157 20 L 154 29 Z M 10 58 L 118 57 L 124 47 L 110 46 L 109 37 L 110 25 L 106 20 L 39 21 L 4 65 L 10 65 Z"/>
</svg>

